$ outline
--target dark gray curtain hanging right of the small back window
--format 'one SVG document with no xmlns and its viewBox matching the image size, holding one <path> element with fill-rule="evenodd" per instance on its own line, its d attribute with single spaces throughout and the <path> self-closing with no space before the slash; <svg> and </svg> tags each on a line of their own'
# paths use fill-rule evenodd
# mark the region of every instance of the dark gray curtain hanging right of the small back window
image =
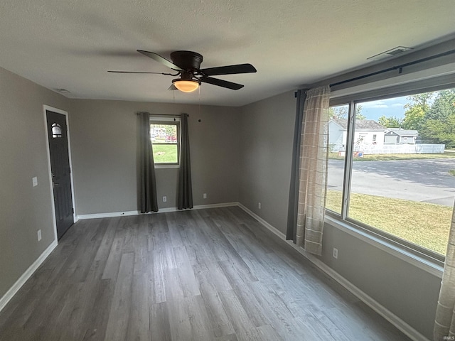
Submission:
<svg viewBox="0 0 455 341">
<path fill-rule="evenodd" d="M 180 173 L 178 174 L 177 208 L 193 208 L 191 188 L 190 138 L 188 135 L 188 114 L 181 114 Z"/>
</svg>

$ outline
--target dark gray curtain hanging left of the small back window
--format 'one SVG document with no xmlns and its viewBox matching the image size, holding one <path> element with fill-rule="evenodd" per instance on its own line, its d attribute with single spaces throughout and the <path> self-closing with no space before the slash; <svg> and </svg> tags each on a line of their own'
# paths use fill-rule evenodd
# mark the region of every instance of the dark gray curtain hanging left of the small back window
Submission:
<svg viewBox="0 0 455 341">
<path fill-rule="evenodd" d="M 154 153 L 150 141 L 150 114 L 139 112 L 138 115 L 141 121 L 139 129 L 139 177 L 141 182 L 139 208 L 141 213 L 158 212 Z"/>
</svg>

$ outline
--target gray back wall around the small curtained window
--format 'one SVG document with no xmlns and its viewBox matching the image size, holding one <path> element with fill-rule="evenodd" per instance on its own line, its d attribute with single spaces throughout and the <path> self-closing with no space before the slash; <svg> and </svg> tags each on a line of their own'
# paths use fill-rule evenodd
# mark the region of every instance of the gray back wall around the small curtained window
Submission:
<svg viewBox="0 0 455 341">
<path fill-rule="evenodd" d="M 72 105 L 77 215 L 138 209 L 136 113 L 140 111 L 190 115 L 194 205 L 238 201 L 237 108 L 102 100 L 74 100 Z M 177 180 L 178 169 L 156 169 L 159 208 L 176 207 Z M 164 195 L 167 202 L 162 201 Z"/>
</svg>

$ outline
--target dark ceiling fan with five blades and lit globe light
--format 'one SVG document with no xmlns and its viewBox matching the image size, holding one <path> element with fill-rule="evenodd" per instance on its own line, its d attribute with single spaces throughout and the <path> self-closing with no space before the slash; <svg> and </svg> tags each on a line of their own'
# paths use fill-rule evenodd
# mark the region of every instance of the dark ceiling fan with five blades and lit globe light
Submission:
<svg viewBox="0 0 455 341">
<path fill-rule="evenodd" d="M 218 87 L 226 87 L 232 90 L 239 90 L 244 85 L 228 82 L 227 80 L 220 80 L 210 76 L 216 75 L 234 75 L 237 73 L 250 73 L 256 72 L 256 69 L 251 64 L 237 64 L 227 65 L 219 67 L 209 67 L 207 69 L 200 69 L 200 63 L 202 63 L 203 57 L 199 53 L 192 51 L 175 51 L 171 53 L 171 61 L 161 57 L 153 52 L 137 50 L 146 57 L 149 57 L 156 62 L 159 62 L 176 73 L 164 73 L 164 72 L 141 72 L 141 71 L 107 71 L 117 73 L 151 73 L 159 75 L 179 76 L 172 80 L 171 87 L 168 90 L 180 90 L 183 92 L 193 92 L 200 86 L 200 83 L 209 83 L 217 85 Z"/>
</svg>

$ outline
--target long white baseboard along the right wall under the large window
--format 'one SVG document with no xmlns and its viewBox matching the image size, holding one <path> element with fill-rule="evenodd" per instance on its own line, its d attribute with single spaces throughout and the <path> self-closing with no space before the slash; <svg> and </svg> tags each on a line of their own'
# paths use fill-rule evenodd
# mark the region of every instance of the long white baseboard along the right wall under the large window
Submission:
<svg viewBox="0 0 455 341">
<path fill-rule="evenodd" d="M 251 215 L 255 220 L 260 222 L 264 227 L 269 229 L 270 232 L 273 232 L 276 234 L 279 238 L 283 239 L 286 241 L 290 247 L 293 247 L 297 251 L 299 251 L 300 254 L 306 257 L 306 259 L 309 259 L 311 263 L 313 263 L 315 266 L 317 266 L 321 271 L 323 271 L 325 274 L 333 278 L 333 280 L 337 281 L 338 283 L 341 284 L 346 290 L 348 290 L 350 293 L 352 293 L 355 297 L 357 297 L 360 301 L 368 305 L 370 308 L 375 310 L 376 313 L 381 315 L 383 318 L 385 318 L 387 321 L 392 323 L 392 325 L 395 325 L 396 328 L 401 330 L 405 335 L 410 337 L 411 340 L 415 341 L 429 341 L 427 337 L 424 337 L 421 333 L 419 333 L 417 330 L 412 328 L 410 325 L 408 325 L 405 321 L 403 321 L 401 318 L 399 318 L 397 315 L 392 313 L 390 310 L 385 308 L 383 305 L 375 301 L 374 298 L 369 296 L 368 294 L 364 293 L 361 291 L 357 286 L 355 286 L 353 283 L 350 283 L 346 278 L 338 274 L 338 272 L 334 271 L 330 266 L 326 265 L 321 261 L 319 258 L 314 256 L 313 254 L 309 254 L 306 252 L 303 248 L 297 247 L 296 244 L 294 244 L 292 241 L 286 240 L 286 235 L 282 232 L 279 232 L 278 229 L 273 227 L 271 224 L 263 220 L 261 217 L 259 217 L 255 212 L 252 212 L 249 210 L 247 207 L 239 203 L 238 205 L 242 210 L 247 212 L 249 215 Z"/>
</svg>

